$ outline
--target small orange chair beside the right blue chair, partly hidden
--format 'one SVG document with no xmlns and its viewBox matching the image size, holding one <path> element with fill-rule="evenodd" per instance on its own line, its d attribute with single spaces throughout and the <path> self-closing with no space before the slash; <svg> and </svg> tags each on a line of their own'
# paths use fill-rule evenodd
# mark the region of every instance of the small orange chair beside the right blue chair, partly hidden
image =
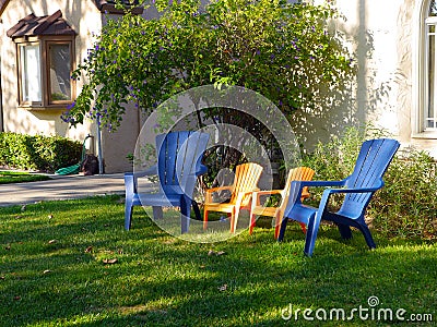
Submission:
<svg viewBox="0 0 437 327">
<path fill-rule="evenodd" d="M 284 210 L 288 203 L 290 187 L 291 187 L 292 181 L 310 181 L 312 179 L 314 174 L 315 174 L 315 171 L 311 168 L 297 167 L 297 168 L 291 169 L 288 171 L 288 177 L 287 177 L 287 180 L 285 182 L 285 186 L 283 190 L 253 192 L 252 207 L 250 210 L 249 234 L 251 234 L 253 231 L 253 227 L 256 223 L 255 216 L 269 216 L 269 217 L 275 218 L 274 238 L 277 239 L 277 235 L 280 233 L 282 218 L 284 217 Z M 273 195 L 273 194 L 281 195 L 281 202 L 277 207 L 264 207 L 263 205 L 261 205 L 262 196 L 268 196 L 268 195 Z M 308 187 L 304 187 L 302 191 L 300 201 L 304 201 L 307 197 L 309 197 Z M 300 227 L 302 227 L 303 231 L 306 232 L 306 225 L 300 222 Z"/>
</svg>

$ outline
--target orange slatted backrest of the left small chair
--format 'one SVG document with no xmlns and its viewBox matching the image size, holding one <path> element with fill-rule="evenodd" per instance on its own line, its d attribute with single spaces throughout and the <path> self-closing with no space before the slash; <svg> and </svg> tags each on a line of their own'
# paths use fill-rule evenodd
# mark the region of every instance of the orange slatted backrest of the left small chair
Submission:
<svg viewBox="0 0 437 327">
<path fill-rule="evenodd" d="M 238 193 L 256 191 L 258 181 L 262 173 L 262 166 L 248 162 L 238 165 L 235 169 L 234 189 L 229 203 L 236 203 Z M 248 205 L 250 196 L 247 196 L 241 206 Z"/>
</svg>

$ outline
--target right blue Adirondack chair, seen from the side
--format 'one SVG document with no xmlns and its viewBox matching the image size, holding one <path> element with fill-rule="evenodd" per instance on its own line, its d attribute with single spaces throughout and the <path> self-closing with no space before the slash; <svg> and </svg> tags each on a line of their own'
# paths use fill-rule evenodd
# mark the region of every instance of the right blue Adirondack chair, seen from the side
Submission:
<svg viewBox="0 0 437 327">
<path fill-rule="evenodd" d="M 285 233 L 287 220 L 293 219 L 307 225 L 305 254 L 312 255 L 317 232 L 322 219 L 333 221 L 343 239 L 351 239 L 351 227 L 357 228 L 364 235 L 367 245 L 375 249 L 364 215 L 371 196 L 383 186 L 382 177 L 399 148 L 399 142 L 390 138 L 370 140 L 363 143 L 356 159 L 353 173 L 342 181 L 292 182 L 291 201 L 281 223 L 279 241 Z M 303 205 L 300 193 L 308 186 L 334 186 L 323 191 L 318 208 Z M 336 213 L 328 209 L 329 197 L 335 193 L 345 194 L 343 204 Z"/>
</svg>

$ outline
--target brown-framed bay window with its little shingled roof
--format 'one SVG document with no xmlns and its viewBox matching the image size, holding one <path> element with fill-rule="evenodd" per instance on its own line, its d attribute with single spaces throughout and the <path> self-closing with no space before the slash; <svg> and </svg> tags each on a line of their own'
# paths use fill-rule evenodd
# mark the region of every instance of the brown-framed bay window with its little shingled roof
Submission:
<svg viewBox="0 0 437 327">
<path fill-rule="evenodd" d="M 16 44 L 19 105 L 28 109 L 66 108 L 74 98 L 75 33 L 62 13 L 29 14 L 8 31 Z"/>
</svg>

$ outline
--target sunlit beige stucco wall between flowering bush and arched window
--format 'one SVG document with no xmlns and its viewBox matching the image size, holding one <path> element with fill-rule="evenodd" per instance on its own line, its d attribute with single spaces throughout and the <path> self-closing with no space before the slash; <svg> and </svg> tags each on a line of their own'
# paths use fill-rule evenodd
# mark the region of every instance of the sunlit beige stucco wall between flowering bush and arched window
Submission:
<svg viewBox="0 0 437 327">
<path fill-rule="evenodd" d="M 316 0 L 322 3 L 324 0 Z M 437 158 L 437 135 L 417 137 L 413 131 L 413 52 L 417 47 L 415 8 L 421 0 L 336 0 L 346 17 L 335 27 L 347 37 L 357 53 L 358 75 L 355 99 L 346 101 L 358 121 L 385 128 L 401 141 L 428 150 Z M 340 132 L 340 131 L 339 131 Z"/>
</svg>

